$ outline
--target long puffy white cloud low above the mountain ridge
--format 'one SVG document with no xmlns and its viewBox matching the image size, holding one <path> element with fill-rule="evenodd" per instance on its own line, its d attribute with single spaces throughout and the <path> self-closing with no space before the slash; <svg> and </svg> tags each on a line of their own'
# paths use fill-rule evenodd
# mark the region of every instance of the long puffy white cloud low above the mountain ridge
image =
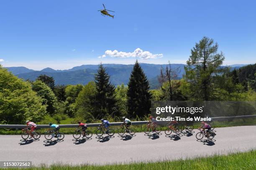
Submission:
<svg viewBox="0 0 256 170">
<path fill-rule="evenodd" d="M 152 58 L 161 58 L 163 57 L 163 54 L 152 54 L 149 51 L 143 51 L 140 48 L 137 48 L 133 52 L 122 52 L 122 51 L 118 52 L 118 50 L 114 50 L 114 51 L 107 50 L 105 51 L 104 55 L 98 58 L 104 58 L 106 56 L 117 57 L 117 58 L 138 57 L 143 60 L 148 60 Z"/>
</svg>

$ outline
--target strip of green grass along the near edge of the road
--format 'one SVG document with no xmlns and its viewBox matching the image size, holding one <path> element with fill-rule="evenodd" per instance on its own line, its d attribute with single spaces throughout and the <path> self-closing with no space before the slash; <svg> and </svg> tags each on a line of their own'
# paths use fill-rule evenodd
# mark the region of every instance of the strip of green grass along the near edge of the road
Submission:
<svg viewBox="0 0 256 170">
<path fill-rule="evenodd" d="M 10 170 L 18 168 L 9 168 Z M 33 170 L 255 170 L 256 150 L 228 155 L 212 155 L 186 160 L 159 161 L 156 163 L 131 163 L 116 165 L 41 165 L 25 168 Z"/>
</svg>

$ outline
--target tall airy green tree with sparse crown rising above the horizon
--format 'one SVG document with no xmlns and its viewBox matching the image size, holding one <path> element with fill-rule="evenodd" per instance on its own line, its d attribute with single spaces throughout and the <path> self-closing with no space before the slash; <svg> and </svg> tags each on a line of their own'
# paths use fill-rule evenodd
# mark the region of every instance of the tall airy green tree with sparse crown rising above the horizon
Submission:
<svg viewBox="0 0 256 170">
<path fill-rule="evenodd" d="M 218 53 L 218 44 L 213 39 L 203 37 L 191 50 L 184 78 L 191 84 L 188 87 L 191 99 L 215 100 L 218 96 L 217 82 L 223 72 L 221 65 L 224 60 L 222 52 Z"/>
</svg>

